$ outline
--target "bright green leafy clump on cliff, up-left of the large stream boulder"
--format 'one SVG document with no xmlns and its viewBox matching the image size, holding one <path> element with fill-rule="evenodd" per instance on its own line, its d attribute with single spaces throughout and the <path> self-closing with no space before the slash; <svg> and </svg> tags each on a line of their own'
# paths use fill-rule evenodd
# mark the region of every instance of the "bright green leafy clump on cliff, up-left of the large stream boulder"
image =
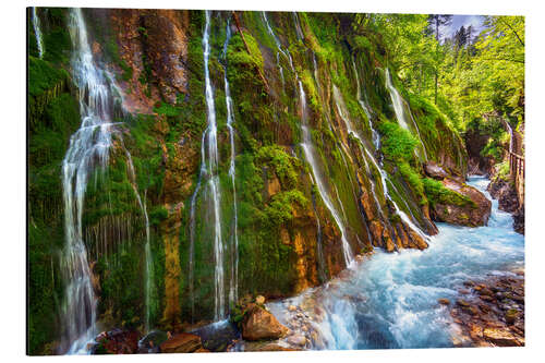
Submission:
<svg viewBox="0 0 545 363">
<path fill-rule="evenodd" d="M 384 121 L 378 125 L 383 135 L 380 149 L 386 158 L 392 161 L 411 160 L 414 157 L 416 138 L 398 123 Z"/>
</svg>

